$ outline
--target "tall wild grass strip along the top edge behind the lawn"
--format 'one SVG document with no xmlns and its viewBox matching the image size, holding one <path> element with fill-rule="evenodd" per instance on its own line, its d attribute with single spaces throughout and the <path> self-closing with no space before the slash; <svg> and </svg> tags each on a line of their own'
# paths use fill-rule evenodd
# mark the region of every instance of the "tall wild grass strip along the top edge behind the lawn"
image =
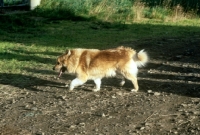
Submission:
<svg viewBox="0 0 200 135">
<path fill-rule="evenodd" d="M 74 17 L 79 16 L 120 23 L 146 19 L 169 22 L 195 18 L 199 9 L 195 4 L 200 3 L 182 0 L 43 0 L 35 12 L 46 17 L 77 19 Z"/>
</svg>

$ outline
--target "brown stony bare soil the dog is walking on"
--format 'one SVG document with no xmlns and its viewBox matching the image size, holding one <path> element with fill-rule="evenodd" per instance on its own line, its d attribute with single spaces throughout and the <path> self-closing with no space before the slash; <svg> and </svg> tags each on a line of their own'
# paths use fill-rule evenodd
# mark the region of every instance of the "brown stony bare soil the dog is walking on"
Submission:
<svg viewBox="0 0 200 135">
<path fill-rule="evenodd" d="M 100 92 L 91 91 L 92 81 L 69 92 L 69 74 L 21 75 L 26 85 L 0 77 L 0 134 L 200 134 L 200 34 L 123 45 L 150 56 L 139 69 L 139 92 L 130 92 L 128 80 L 120 87 L 118 77 L 103 79 Z"/>
</svg>

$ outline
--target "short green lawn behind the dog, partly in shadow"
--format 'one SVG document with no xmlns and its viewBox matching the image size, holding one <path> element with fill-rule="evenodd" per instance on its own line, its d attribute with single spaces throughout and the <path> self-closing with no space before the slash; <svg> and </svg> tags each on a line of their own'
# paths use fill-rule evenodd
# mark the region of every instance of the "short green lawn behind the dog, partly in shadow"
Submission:
<svg viewBox="0 0 200 135">
<path fill-rule="evenodd" d="M 85 8 L 84 12 L 83 9 L 77 9 L 77 12 L 74 12 L 65 10 L 60 3 L 54 3 L 61 8 L 42 9 L 42 5 L 41 8 L 27 14 L 0 16 L 0 81 L 3 81 L 3 84 L 5 80 L 7 80 L 5 84 L 29 84 L 33 80 L 27 77 L 51 78 L 56 74 L 52 71 L 55 59 L 66 48 L 105 49 L 119 45 L 135 48 L 132 44 L 135 41 L 151 39 L 152 42 L 156 42 L 162 38 L 189 38 L 199 32 L 198 18 L 163 22 L 160 19 L 141 17 L 143 12 L 141 3 L 138 3 L 137 7 L 141 8 L 137 11 L 135 8 L 131 9 L 134 11 L 132 13 L 138 14 L 135 16 L 128 12 L 129 8 L 125 3 L 123 6 L 126 8 L 120 7 L 118 3 L 117 11 L 114 9 L 110 13 L 105 13 L 110 7 L 103 2 L 108 1 L 104 0 L 96 5 L 89 3 L 89 0 L 85 2 L 88 2 L 88 7 L 95 6 L 95 9 L 89 11 Z M 114 14 L 114 11 L 119 16 Z M 78 12 L 82 14 L 77 14 Z M 61 14 L 56 15 L 57 13 Z M 63 17 L 64 15 L 67 16 Z M 130 21 L 133 17 L 134 21 Z"/>
</svg>

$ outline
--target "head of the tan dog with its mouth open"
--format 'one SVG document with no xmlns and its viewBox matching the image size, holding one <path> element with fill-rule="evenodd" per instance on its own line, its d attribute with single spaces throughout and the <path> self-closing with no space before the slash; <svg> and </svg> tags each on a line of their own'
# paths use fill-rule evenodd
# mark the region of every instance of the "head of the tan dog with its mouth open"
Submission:
<svg viewBox="0 0 200 135">
<path fill-rule="evenodd" d="M 65 71 L 67 71 L 67 61 L 71 55 L 71 51 L 67 50 L 63 55 L 59 56 L 56 60 L 56 65 L 53 67 L 53 70 L 59 71 L 59 77 Z"/>
</svg>

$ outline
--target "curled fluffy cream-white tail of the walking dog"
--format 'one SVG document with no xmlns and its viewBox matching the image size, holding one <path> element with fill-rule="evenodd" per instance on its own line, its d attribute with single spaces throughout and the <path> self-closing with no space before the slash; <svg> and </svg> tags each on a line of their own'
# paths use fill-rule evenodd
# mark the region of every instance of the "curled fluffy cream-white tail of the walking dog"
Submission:
<svg viewBox="0 0 200 135">
<path fill-rule="evenodd" d="M 145 64 L 148 62 L 148 55 L 144 50 L 139 51 L 133 56 L 133 60 L 136 62 L 137 67 L 145 66 Z"/>
</svg>

